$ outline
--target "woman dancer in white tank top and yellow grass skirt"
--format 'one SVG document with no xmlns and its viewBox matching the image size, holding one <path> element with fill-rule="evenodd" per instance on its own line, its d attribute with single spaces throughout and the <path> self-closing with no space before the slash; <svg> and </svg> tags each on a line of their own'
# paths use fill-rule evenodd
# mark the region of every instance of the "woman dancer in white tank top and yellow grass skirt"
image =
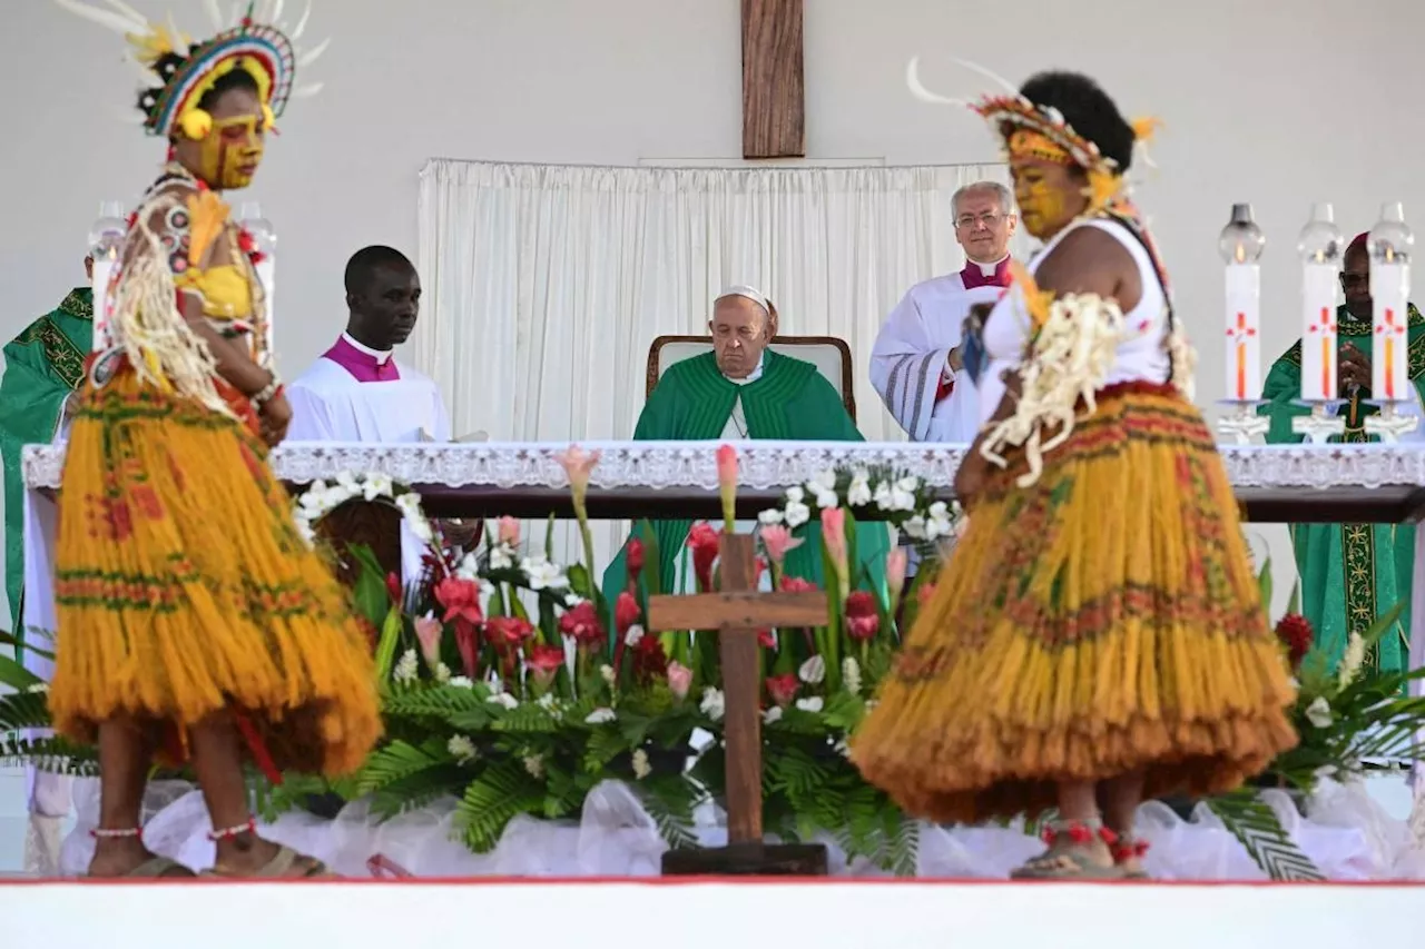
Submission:
<svg viewBox="0 0 1425 949">
<path fill-rule="evenodd" d="M 1045 249 L 985 321 L 980 390 L 1003 396 L 956 474 L 969 526 L 854 759 L 933 821 L 1057 808 L 1015 876 L 1139 876 L 1144 797 L 1258 774 L 1295 742 L 1292 688 L 1124 197 L 1151 125 L 1072 73 L 972 108 Z"/>
</svg>

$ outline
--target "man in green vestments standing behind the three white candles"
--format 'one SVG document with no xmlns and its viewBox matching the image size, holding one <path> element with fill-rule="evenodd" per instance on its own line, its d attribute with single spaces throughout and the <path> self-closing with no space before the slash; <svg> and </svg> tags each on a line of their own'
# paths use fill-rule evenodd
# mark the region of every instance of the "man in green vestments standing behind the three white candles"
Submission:
<svg viewBox="0 0 1425 949">
<path fill-rule="evenodd" d="M 1371 402 L 1371 259 L 1367 235 L 1361 234 L 1341 258 L 1341 289 L 1345 304 L 1337 309 L 1337 388 L 1345 416 L 1345 442 L 1371 442 L 1365 416 L 1377 412 Z M 1411 398 L 1419 412 L 1425 386 L 1425 318 L 1408 308 Z M 1297 405 L 1301 395 L 1301 341 L 1298 339 L 1267 373 L 1261 398 L 1263 415 L 1271 419 L 1267 440 L 1300 442 L 1291 419 L 1310 409 Z M 1396 630 L 1388 631 L 1368 651 L 1367 663 L 1388 671 L 1419 665 L 1406 655 L 1411 628 L 1411 573 L 1415 563 L 1415 527 L 1409 524 L 1291 524 L 1291 543 L 1301 574 L 1301 613 L 1311 620 L 1317 645 L 1341 660 L 1352 633 L 1362 634 L 1375 618 L 1396 603 L 1405 604 Z"/>
</svg>

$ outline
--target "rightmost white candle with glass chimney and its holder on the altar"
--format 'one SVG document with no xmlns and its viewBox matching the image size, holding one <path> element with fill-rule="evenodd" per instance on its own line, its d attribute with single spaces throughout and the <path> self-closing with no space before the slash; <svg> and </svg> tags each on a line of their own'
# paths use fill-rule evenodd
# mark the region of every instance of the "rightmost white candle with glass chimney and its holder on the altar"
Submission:
<svg viewBox="0 0 1425 949">
<path fill-rule="evenodd" d="M 1419 427 L 1419 416 L 1402 415 L 1414 400 L 1409 379 L 1411 251 L 1415 234 L 1405 224 L 1399 201 L 1382 205 L 1365 249 L 1371 255 L 1371 392 L 1379 413 L 1365 419 L 1365 430 L 1382 442 L 1398 442 Z"/>
</svg>

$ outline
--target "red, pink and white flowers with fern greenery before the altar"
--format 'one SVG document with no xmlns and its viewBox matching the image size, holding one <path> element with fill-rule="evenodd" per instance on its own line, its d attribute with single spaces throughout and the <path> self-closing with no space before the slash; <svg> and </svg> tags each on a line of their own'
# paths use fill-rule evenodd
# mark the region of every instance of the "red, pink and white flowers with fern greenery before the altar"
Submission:
<svg viewBox="0 0 1425 949">
<path fill-rule="evenodd" d="M 567 567 L 554 561 L 549 534 L 532 544 L 507 517 L 484 531 L 479 551 L 446 549 L 419 496 L 380 474 L 343 474 L 298 499 L 294 516 L 308 539 L 338 506 L 365 500 L 396 506 L 430 551 L 423 579 L 410 587 L 386 576 L 369 551 L 351 551 L 362 567 L 355 603 L 375 627 L 386 737 L 356 775 L 335 784 L 286 775 L 269 787 L 255 778 L 269 816 L 322 792 L 366 797 L 385 816 L 449 795 L 459 799 L 465 844 L 483 852 L 513 818 L 577 816 L 597 784 L 617 779 L 641 798 L 671 846 L 697 844 L 694 809 L 715 802 L 725 787 L 717 638 L 648 630 L 648 598 L 677 583 L 658 576 L 647 522 L 626 547 L 626 574 L 613 588 L 597 587 L 584 499 L 598 455 L 576 446 L 561 462 L 583 539 L 583 561 Z M 730 446 L 720 452 L 718 474 L 727 531 L 737 492 Z M 865 531 L 885 530 L 872 519 L 889 523 L 926 559 L 909 584 L 906 547 L 892 546 L 884 570 L 858 559 L 858 536 L 869 547 Z M 788 489 L 758 522 L 760 571 L 787 591 L 817 588 L 788 563 L 809 541 L 811 526 L 819 527 L 829 614 L 824 627 L 768 628 L 758 637 L 764 825 L 782 839 L 828 835 L 848 858 L 912 873 L 916 824 L 862 781 L 846 740 L 874 705 L 901 631 L 931 593 L 933 559 L 953 544 L 960 513 L 936 502 L 919 479 L 856 469 L 822 472 Z M 684 544 L 693 584 L 715 590 L 718 526 L 694 524 Z M 1270 564 L 1260 583 L 1270 603 Z M 1340 664 L 1312 645 L 1295 607 L 1275 624 L 1300 681 L 1301 744 L 1278 757 L 1258 785 L 1308 794 L 1325 775 L 1359 774 L 1371 758 L 1419 757 L 1425 701 L 1406 698 L 1405 685 L 1425 671 L 1379 673 L 1362 661 L 1398 614 L 1352 637 Z M 93 750 L 19 737 L 48 724 L 43 684 L 3 657 L 0 681 L 17 690 L 0 698 L 0 759 L 93 774 Z M 1320 878 L 1255 789 L 1206 804 L 1270 876 Z"/>
</svg>

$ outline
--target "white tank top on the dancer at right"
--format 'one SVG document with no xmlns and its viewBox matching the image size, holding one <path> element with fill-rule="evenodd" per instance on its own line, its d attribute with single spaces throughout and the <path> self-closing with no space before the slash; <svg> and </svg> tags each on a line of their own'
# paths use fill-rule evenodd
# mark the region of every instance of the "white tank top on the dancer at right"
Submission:
<svg viewBox="0 0 1425 949">
<path fill-rule="evenodd" d="M 1113 369 L 1104 385 L 1116 382 L 1167 382 L 1171 373 L 1171 363 L 1167 356 L 1167 298 L 1163 295 L 1163 284 L 1159 279 L 1153 258 L 1149 256 L 1143 242 L 1137 239 L 1127 227 L 1112 218 L 1087 218 L 1076 221 L 1056 234 L 1045 249 L 1029 262 L 1029 272 L 1033 274 L 1049 254 L 1077 228 L 1099 228 L 1113 235 L 1133 256 L 1139 268 L 1139 285 L 1143 294 L 1139 305 L 1124 313 L 1124 338 L 1119 343 Z M 980 425 L 995 415 L 1000 399 L 1005 398 L 1005 383 L 1000 376 L 1016 368 L 1025 356 L 1025 345 L 1029 342 L 1029 312 L 1025 309 L 1023 295 L 1015 289 L 995 304 L 989 319 L 985 321 L 985 355 L 989 358 L 985 376 L 980 379 Z"/>
</svg>

